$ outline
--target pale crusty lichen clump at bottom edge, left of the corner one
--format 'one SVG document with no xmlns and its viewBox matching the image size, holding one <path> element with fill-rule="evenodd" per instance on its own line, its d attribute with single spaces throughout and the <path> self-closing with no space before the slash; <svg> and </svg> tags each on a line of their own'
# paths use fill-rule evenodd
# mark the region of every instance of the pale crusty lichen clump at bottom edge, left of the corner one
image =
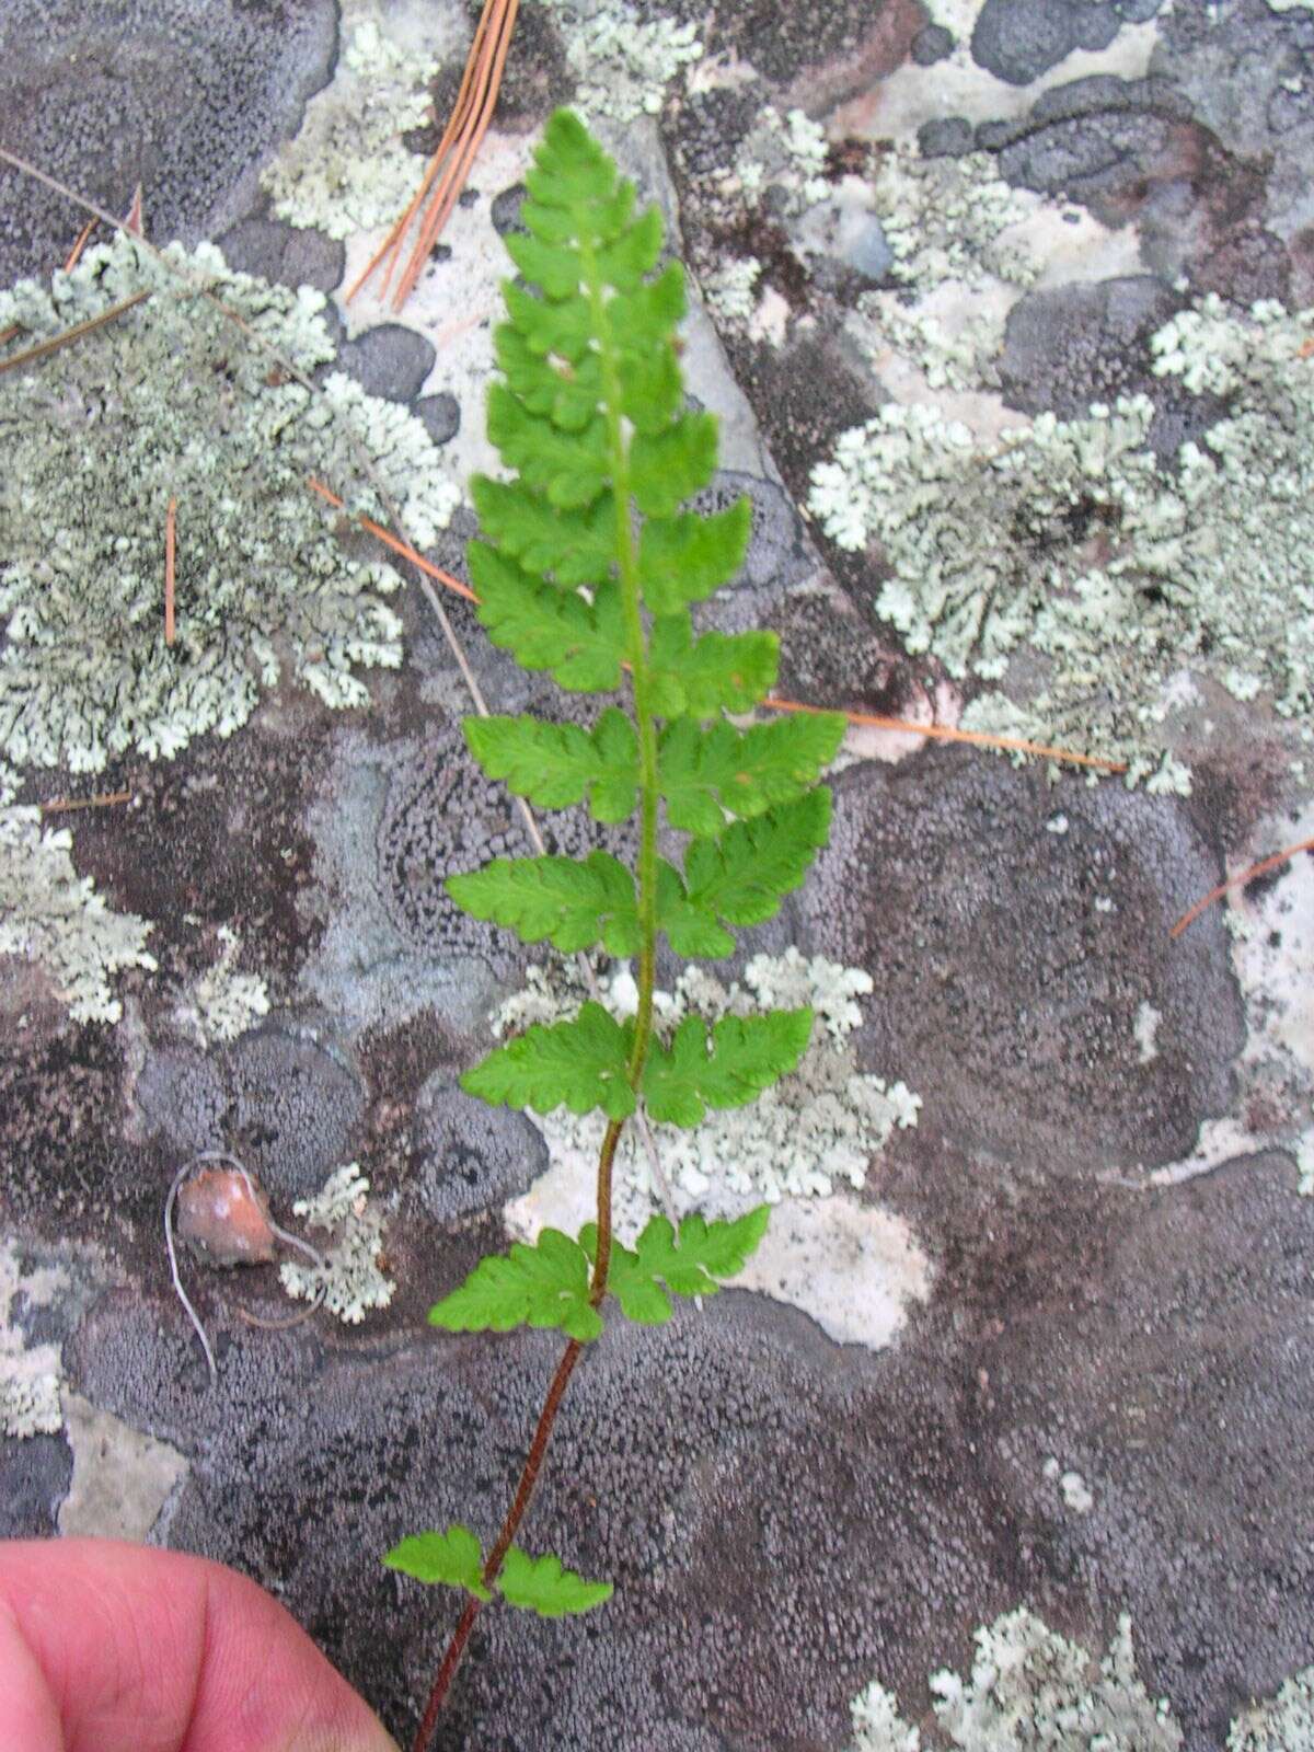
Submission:
<svg viewBox="0 0 1314 1752">
<path fill-rule="evenodd" d="M 962 1752 L 1177 1752 L 1183 1733 L 1167 1701 L 1135 1671 L 1123 1614 L 1102 1659 L 1020 1607 L 976 1633 L 971 1678 L 932 1673 L 936 1743 Z M 851 1752 L 920 1752 L 922 1736 L 897 1699 L 872 1682 L 853 1699 Z M 930 1748 L 927 1748 L 930 1752 Z"/>
</svg>

